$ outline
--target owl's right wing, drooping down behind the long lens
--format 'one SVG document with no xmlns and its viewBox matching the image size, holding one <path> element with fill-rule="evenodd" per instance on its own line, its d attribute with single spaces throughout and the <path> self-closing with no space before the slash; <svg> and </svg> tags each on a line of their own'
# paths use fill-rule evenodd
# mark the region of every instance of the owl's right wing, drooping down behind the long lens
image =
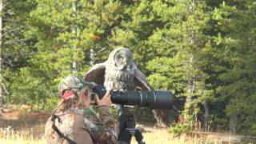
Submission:
<svg viewBox="0 0 256 144">
<path fill-rule="evenodd" d="M 153 90 L 150 85 L 146 82 L 146 76 L 141 70 L 135 69 L 135 84 L 136 87 L 140 87 L 142 90 Z"/>
</svg>

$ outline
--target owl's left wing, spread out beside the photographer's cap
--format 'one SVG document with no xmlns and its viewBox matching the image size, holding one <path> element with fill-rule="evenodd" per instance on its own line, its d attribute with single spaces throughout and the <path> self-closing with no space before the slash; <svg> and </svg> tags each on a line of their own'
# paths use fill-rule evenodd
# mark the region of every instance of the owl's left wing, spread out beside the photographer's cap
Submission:
<svg viewBox="0 0 256 144">
<path fill-rule="evenodd" d="M 86 81 L 95 82 L 98 85 L 104 84 L 104 75 L 106 70 L 106 64 L 98 63 L 90 68 L 89 71 L 86 72 L 84 78 Z"/>
</svg>

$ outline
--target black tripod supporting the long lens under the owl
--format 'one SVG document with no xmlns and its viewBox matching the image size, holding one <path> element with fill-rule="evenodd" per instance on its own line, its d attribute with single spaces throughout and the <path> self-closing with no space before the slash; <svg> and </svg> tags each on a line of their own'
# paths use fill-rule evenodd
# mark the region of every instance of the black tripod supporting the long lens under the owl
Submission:
<svg viewBox="0 0 256 144">
<path fill-rule="evenodd" d="M 135 129 L 134 115 L 124 114 L 123 105 L 118 105 L 118 144 L 130 144 L 133 135 L 138 144 L 146 144 L 141 131 Z"/>
</svg>

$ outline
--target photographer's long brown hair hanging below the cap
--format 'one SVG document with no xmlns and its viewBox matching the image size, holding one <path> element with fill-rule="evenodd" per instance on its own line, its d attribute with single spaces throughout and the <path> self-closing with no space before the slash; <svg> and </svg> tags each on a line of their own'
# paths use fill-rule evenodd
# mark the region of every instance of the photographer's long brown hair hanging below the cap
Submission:
<svg viewBox="0 0 256 144">
<path fill-rule="evenodd" d="M 66 94 L 69 90 L 64 91 L 63 94 Z M 86 93 L 87 97 L 90 94 L 90 90 L 89 89 L 82 89 L 80 91 L 78 91 L 77 94 L 74 94 L 74 97 L 68 98 L 66 100 L 64 100 L 62 98 L 61 102 L 58 103 L 58 106 L 54 109 L 55 112 L 59 112 L 59 111 L 65 111 L 68 110 L 70 107 L 73 106 L 84 106 L 85 102 L 82 99 L 82 94 Z"/>
</svg>

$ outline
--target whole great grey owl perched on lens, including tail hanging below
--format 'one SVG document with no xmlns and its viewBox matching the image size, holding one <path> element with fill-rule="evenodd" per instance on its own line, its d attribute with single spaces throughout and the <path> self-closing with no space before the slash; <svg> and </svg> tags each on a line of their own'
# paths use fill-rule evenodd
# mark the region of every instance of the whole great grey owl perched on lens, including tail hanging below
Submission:
<svg viewBox="0 0 256 144">
<path fill-rule="evenodd" d="M 128 48 L 113 50 L 106 62 L 94 65 L 86 74 L 86 81 L 104 85 L 106 90 L 152 90 L 146 76 L 134 64 Z M 166 110 L 154 110 L 158 125 L 166 126 Z"/>
</svg>

